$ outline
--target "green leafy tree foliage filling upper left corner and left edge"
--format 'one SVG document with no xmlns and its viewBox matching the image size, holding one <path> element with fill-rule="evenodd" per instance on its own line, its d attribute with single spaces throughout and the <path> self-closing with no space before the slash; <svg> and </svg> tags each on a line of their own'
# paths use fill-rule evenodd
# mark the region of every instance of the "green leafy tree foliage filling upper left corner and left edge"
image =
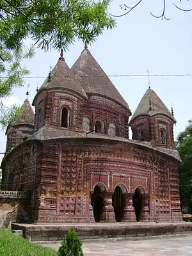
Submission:
<svg viewBox="0 0 192 256">
<path fill-rule="evenodd" d="M 116 26 L 108 15 L 111 0 L 1 0 L 0 3 L 0 125 L 10 122 L 10 113 L 17 116 L 17 108 L 6 108 L 15 86 L 23 86 L 22 58 L 31 58 L 34 47 L 26 51 L 24 42 L 32 38 L 35 46 L 49 51 L 67 51 L 76 40 L 86 44 L 95 42 L 104 29 Z M 13 119 L 13 118 L 12 118 Z"/>
</svg>

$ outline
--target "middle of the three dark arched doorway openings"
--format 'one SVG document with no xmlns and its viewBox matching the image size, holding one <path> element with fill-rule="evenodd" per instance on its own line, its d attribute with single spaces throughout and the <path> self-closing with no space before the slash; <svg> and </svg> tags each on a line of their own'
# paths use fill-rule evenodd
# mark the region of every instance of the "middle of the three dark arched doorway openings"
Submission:
<svg viewBox="0 0 192 256">
<path fill-rule="evenodd" d="M 122 193 L 122 189 L 119 186 L 116 186 L 115 191 L 112 197 L 113 209 L 115 212 L 115 220 L 116 222 L 121 222 L 124 216 L 124 207 L 125 200 L 124 194 Z"/>
</svg>

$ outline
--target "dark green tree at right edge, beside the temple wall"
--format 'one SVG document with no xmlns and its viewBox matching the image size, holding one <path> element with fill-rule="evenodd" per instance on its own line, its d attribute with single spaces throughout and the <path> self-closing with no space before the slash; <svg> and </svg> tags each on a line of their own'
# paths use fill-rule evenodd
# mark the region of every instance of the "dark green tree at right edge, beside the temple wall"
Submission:
<svg viewBox="0 0 192 256">
<path fill-rule="evenodd" d="M 182 204 L 192 210 L 192 120 L 177 137 L 177 150 L 182 163 L 179 166 L 179 186 Z"/>
</svg>

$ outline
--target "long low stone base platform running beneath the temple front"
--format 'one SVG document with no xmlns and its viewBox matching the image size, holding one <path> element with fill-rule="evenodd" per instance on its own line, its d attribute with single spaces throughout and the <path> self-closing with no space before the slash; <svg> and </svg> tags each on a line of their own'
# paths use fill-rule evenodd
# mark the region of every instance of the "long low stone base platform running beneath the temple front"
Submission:
<svg viewBox="0 0 192 256">
<path fill-rule="evenodd" d="M 61 241 L 68 229 L 74 228 L 83 240 L 132 239 L 134 237 L 192 234 L 192 223 L 12 223 L 13 230 L 22 230 L 29 241 Z"/>
</svg>

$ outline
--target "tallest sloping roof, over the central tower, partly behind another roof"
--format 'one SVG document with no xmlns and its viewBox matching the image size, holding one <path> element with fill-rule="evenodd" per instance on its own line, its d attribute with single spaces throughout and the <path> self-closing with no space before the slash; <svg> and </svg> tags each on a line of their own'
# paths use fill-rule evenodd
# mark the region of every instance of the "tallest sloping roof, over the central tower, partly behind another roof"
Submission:
<svg viewBox="0 0 192 256">
<path fill-rule="evenodd" d="M 116 100 L 129 109 L 127 102 L 125 102 L 122 95 L 120 95 L 115 85 L 110 81 L 104 70 L 102 70 L 99 63 L 93 58 L 87 47 L 81 52 L 71 71 L 72 74 L 76 75 L 78 84 L 84 89 L 85 93 L 104 95 Z"/>
</svg>

